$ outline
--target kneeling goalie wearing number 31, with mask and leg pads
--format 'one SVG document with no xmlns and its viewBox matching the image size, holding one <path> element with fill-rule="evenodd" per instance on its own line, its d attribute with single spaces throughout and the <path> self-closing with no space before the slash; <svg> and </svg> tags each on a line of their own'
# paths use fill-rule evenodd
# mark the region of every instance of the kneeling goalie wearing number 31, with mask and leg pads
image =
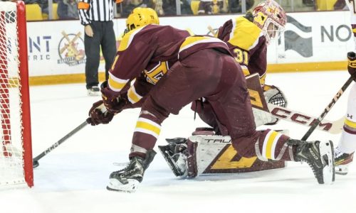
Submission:
<svg viewBox="0 0 356 213">
<path fill-rule="evenodd" d="M 251 102 L 254 105 L 253 116 L 256 126 L 261 126 L 263 124 L 276 124 L 278 121 L 278 119 L 269 114 L 266 104 L 264 103 L 264 99 L 261 99 L 261 97 L 264 96 L 266 97 L 266 102 L 276 104 L 281 107 L 286 107 L 287 104 L 284 94 L 280 89 L 278 89 L 278 87 L 264 84 L 266 80 L 267 45 L 273 38 L 277 38 L 281 35 L 285 25 L 286 13 L 283 11 L 281 6 L 279 6 L 275 1 L 265 1 L 258 4 L 258 6 L 253 9 L 253 13 L 248 12 L 246 13 L 246 16 L 239 16 L 238 18 L 226 21 L 226 23 L 219 28 L 218 33 L 216 33 L 216 37 L 226 42 L 229 46 L 231 54 L 234 55 L 235 60 L 239 62 L 241 67 L 244 68 L 244 75 L 258 73 L 261 86 L 265 90 L 264 94 L 261 92 L 261 88 L 259 88 L 260 84 L 256 82 L 256 77 L 247 77 L 247 87 L 250 90 L 250 96 L 253 97 Z M 206 102 L 205 99 L 199 99 L 193 102 L 192 110 L 196 111 L 199 114 L 199 117 L 205 121 L 206 124 L 209 124 L 209 126 L 212 127 L 210 131 L 201 131 L 201 129 L 198 129 L 197 132 L 194 132 L 194 134 L 205 133 L 211 135 L 208 138 L 204 138 L 203 143 L 205 140 L 209 141 L 209 138 L 215 138 L 216 140 L 219 139 L 213 135 L 226 135 L 226 130 L 219 128 L 219 121 L 215 118 L 214 109 L 212 109 L 209 102 Z M 211 140 L 214 141 L 215 139 Z M 223 141 L 225 140 L 230 141 L 226 138 Z M 185 163 L 186 165 L 184 165 L 185 161 L 182 161 L 181 159 L 181 157 L 184 157 L 184 155 L 182 155 L 182 151 L 185 150 L 184 146 L 187 146 L 187 139 L 173 138 L 168 139 L 167 141 L 169 143 L 168 146 L 159 147 L 160 151 L 162 151 L 164 155 L 164 158 L 166 158 L 175 175 L 187 175 L 186 172 L 188 170 L 188 164 Z M 212 145 L 211 143 L 210 145 L 202 145 L 202 143 L 200 143 L 200 146 L 204 146 L 203 149 L 205 151 L 209 150 L 211 152 L 212 150 L 219 150 L 217 152 L 213 152 L 214 156 L 211 156 L 210 153 L 209 158 L 213 157 L 216 159 L 206 159 L 206 155 L 203 155 L 202 153 L 200 153 L 199 157 L 195 154 L 192 156 L 192 158 L 197 158 L 196 163 L 201 162 L 199 160 L 202 159 L 199 158 L 204 158 L 204 162 L 209 162 L 209 165 L 204 165 L 204 168 L 198 168 L 198 170 L 201 170 L 201 173 L 235 173 L 284 167 L 284 163 L 263 162 L 262 160 L 256 159 L 256 156 L 253 159 L 241 158 L 241 156 L 234 151 L 229 152 L 229 148 L 226 148 L 227 146 L 223 145 L 226 144 L 218 145 L 215 142 Z M 175 146 L 178 148 L 175 148 Z M 209 148 L 209 146 L 214 146 L 214 148 Z M 226 148 L 226 151 L 224 148 Z M 179 150 L 179 153 L 174 153 L 174 151 L 177 150 Z M 224 157 L 224 155 L 230 155 L 230 157 Z M 221 160 L 233 158 L 234 156 L 235 158 L 239 158 L 239 160 L 233 160 L 234 162 L 232 163 L 225 162 L 223 166 Z M 214 160 L 217 161 L 215 162 Z M 216 166 L 218 164 L 220 166 Z M 183 168 L 179 168 L 179 166 L 182 166 Z M 194 165 L 190 168 L 197 168 L 199 166 L 200 164 Z M 197 173 L 189 173 L 190 177 L 194 175 L 197 175 Z"/>
</svg>

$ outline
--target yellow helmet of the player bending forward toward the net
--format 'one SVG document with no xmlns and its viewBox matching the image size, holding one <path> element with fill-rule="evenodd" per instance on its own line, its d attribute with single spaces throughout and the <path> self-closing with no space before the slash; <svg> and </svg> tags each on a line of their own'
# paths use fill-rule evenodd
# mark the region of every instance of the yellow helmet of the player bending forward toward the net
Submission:
<svg viewBox="0 0 356 213">
<path fill-rule="evenodd" d="M 125 33 L 150 23 L 159 24 L 157 13 L 150 8 L 135 8 L 126 19 Z"/>
</svg>

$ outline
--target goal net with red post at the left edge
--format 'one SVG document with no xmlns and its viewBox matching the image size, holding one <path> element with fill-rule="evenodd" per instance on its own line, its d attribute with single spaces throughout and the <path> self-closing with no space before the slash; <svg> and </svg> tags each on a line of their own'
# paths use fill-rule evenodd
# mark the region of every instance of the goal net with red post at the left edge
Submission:
<svg viewBox="0 0 356 213">
<path fill-rule="evenodd" d="M 0 189 L 33 186 L 26 14 L 0 1 Z"/>
</svg>

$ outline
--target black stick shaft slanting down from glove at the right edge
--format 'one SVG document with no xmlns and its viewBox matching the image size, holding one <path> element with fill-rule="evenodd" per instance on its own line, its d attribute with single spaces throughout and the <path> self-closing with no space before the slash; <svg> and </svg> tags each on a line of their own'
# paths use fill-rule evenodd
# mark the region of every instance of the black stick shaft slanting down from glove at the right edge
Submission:
<svg viewBox="0 0 356 213">
<path fill-rule="evenodd" d="M 313 133 L 313 131 L 316 129 L 316 127 L 320 124 L 320 122 L 323 121 L 323 119 L 325 118 L 326 114 L 328 114 L 330 109 L 334 107 L 334 105 L 337 102 L 337 100 L 340 99 L 341 95 L 345 92 L 347 87 L 349 87 L 349 85 L 351 84 L 352 81 L 353 81 L 353 79 L 352 79 L 352 77 L 350 77 L 345 82 L 345 84 L 342 85 L 341 89 L 337 92 L 337 94 L 335 94 L 335 97 L 333 97 L 333 99 L 331 100 L 330 104 L 328 104 L 328 107 L 326 107 L 324 109 L 323 113 L 318 117 L 318 119 L 316 121 L 314 121 L 313 125 L 310 126 L 310 129 L 303 136 L 302 141 L 306 141 L 309 138 L 311 133 Z"/>
</svg>

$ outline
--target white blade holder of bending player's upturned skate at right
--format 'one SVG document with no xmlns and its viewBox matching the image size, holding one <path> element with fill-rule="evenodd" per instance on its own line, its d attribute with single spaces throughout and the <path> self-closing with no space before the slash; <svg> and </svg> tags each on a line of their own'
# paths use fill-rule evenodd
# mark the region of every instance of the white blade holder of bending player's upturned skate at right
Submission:
<svg viewBox="0 0 356 213">
<path fill-rule="evenodd" d="M 323 168 L 323 183 L 333 184 L 335 181 L 335 165 L 334 165 L 334 146 L 333 141 L 320 141 L 319 144 L 320 156 L 322 156 Z"/>
</svg>

